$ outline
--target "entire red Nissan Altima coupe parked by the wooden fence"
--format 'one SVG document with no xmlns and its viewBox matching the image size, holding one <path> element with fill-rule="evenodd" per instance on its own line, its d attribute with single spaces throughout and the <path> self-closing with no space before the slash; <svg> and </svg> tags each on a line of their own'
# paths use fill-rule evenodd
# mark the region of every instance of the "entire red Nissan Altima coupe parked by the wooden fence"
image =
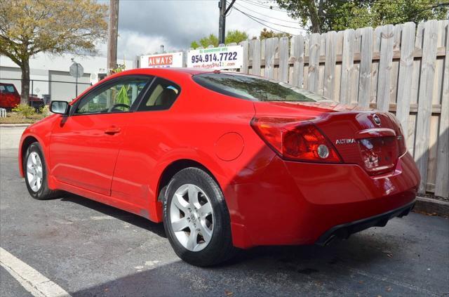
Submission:
<svg viewBox="0 0 449 297">
<path fill-rule="evenodd" d="M 138 69 L 29 126 L 35 199 L 72 192 L 163 222 L 180 258 L 328 244 L 413 209 L 420 176 L 396 118 L 236 72 Z"/>
</svg>

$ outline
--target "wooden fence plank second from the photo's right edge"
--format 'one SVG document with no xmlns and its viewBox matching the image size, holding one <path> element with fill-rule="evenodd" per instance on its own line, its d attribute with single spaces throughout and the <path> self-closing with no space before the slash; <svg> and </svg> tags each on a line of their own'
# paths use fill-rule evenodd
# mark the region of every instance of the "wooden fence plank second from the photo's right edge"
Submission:
<svg viewBox="0 0 449 297">
<path fill-rule="evenodd" d="M 429 157 L 429 130 L 431 117 L 432 92 L 434 86 L 436 45 L 438 23 L 429 20 L 424 25 L 422 41 L 422 65 L 420 79 L 420 93 L 418 97 L 418 114 L 416 128 L 415 161 L 421 174 L 419 192 L 424 193 L 427 184 L 427 161 Z"/>
</svg>

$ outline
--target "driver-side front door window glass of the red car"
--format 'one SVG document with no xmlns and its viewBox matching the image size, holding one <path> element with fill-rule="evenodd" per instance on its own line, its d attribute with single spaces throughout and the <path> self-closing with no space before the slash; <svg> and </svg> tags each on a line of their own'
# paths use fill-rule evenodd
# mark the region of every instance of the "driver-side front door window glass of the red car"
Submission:
<svg viewBox="0 0 449 297">
<path fill-rule="evenodd" d="M 128 112 L 152 77 L 118 79 L 81 98 L 74 114 Z"/>
</svg>

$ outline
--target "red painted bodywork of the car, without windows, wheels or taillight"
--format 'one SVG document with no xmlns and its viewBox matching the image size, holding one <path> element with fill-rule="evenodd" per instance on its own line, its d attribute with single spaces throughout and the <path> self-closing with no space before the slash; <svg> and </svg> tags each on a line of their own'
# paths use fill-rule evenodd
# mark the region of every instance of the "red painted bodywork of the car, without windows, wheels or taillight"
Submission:
<svg viewBox="0 0 449 297">
<path fill-rule="evenodd" d="M 161 222 L 157 197 L 164 172 L 174 162 L 194 161 L 220 185 L 233 242 L 241 248 L 312 244 L 335 225 L 415 199 L 420 176 L 408 152 L 378 174 L 363 168 L 358 143 L 335 145 L 342 163 L 286 161 L 250 126 L 254 117 L 307 118 L 335 144 L 340 138 L 399 135 L 391 115 L 377 113 L 382 119 L 379 127 L 371 119 L 373 110 L 358 107 L 242 100 L 199 86 L 192 80 L 197 73 L 201 71 L 139 69 L 108 77 L 99 84 L 148 74 L 173 81 L 182 91 L 169 110 L 55 114 L 29 126 L 20 143 L 20 173 L 23 176 L 24 148 L 35 138 L 43 147 L 52 189 Z M 106 134 L 110 127 L 119 128 L 119 133 Z"/>
</svg>

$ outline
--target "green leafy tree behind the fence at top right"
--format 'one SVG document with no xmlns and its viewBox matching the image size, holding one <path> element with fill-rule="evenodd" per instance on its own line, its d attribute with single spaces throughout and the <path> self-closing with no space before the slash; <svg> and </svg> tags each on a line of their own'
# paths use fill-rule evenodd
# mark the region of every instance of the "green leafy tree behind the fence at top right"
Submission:
<svg viewBox="0 0 449 297">
<path fill-rule="evenodd" d="M 449 18 L 448 0 L 273 0 L 312 33 Z"/>
</svg>

